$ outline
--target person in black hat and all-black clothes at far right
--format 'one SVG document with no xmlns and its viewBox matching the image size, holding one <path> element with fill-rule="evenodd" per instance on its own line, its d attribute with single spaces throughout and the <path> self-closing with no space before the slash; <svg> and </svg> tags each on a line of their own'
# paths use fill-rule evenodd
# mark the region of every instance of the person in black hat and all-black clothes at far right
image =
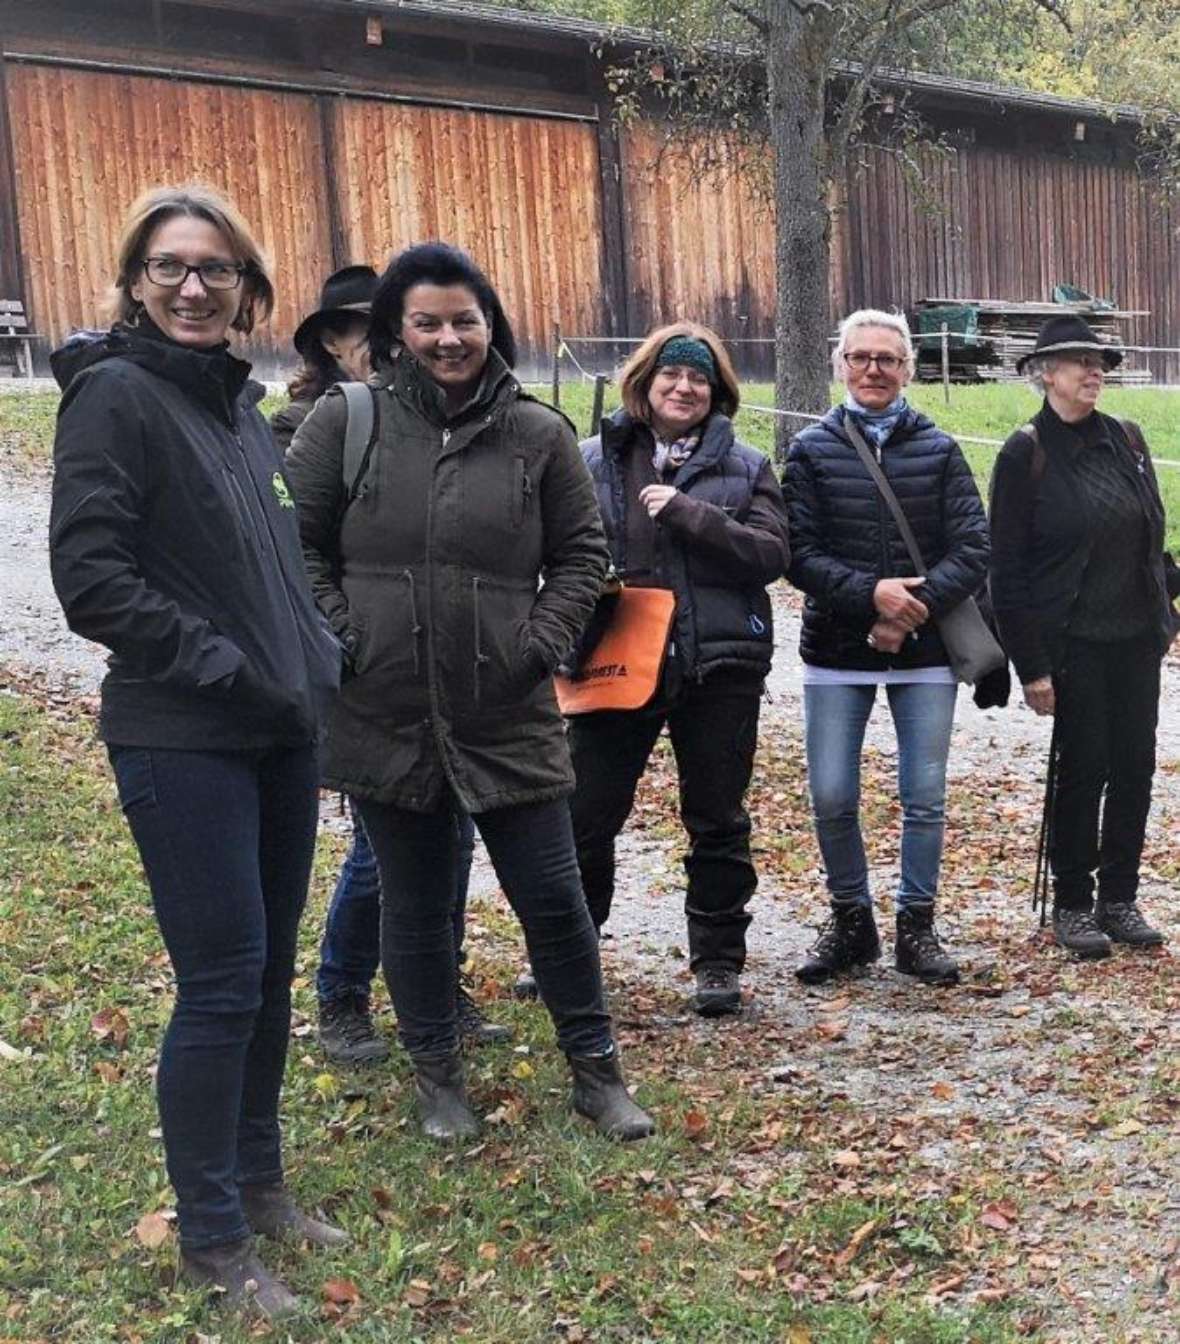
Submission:
<svg viewBox="0 0 1180 1344">
<path fill-rule="evenodd" d="M 1025 702 L 1054 716 L 1054 938 L 1085 958 L 1164 941 L 1136 895 L 1180 571 L 1142 431 L 1097 409 L 1121 362 L 1081 317 L 1051 317 L 1017 363 L 1044 405 L 992 476 L 996 618 Z"/>
</svg>

